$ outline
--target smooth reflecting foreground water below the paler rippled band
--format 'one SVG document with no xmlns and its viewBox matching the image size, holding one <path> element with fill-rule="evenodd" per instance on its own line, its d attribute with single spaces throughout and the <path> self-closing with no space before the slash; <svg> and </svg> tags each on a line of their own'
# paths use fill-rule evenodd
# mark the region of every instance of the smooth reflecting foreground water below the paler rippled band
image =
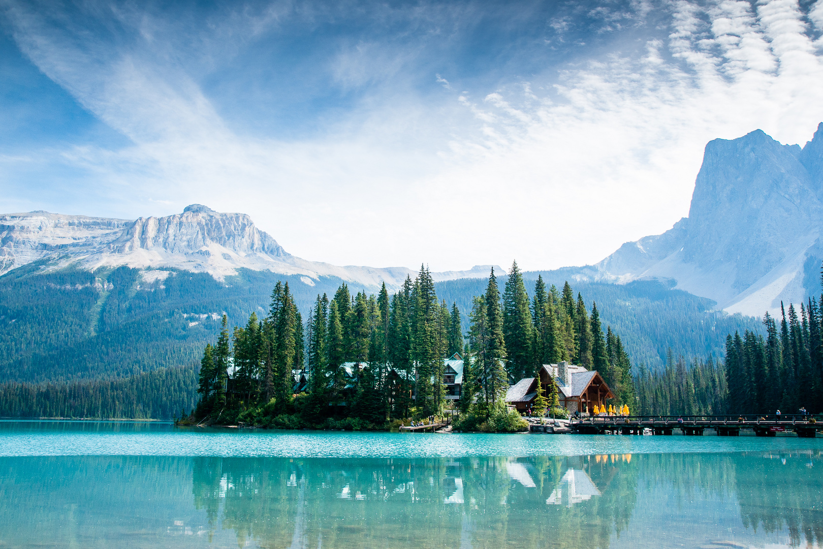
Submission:
<svg viewBox="0 0 823 549">
<path fill-rule="evenodd" d="M 819 452 L 0 458 L 0 547 L 812 545 L 821 465 Z"/>
</svg>

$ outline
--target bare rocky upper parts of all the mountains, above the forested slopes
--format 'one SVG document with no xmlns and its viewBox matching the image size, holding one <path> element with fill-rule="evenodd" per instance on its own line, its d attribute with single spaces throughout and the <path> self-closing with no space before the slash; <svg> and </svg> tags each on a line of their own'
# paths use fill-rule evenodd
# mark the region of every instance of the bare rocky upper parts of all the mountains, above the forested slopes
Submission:
<svg viewBox="0 0 823 549">
<path fill-rule="evenodd" d="M 760 130 L 705 148 L 689 216 L 663 235 L 628 242 L 594 266 L 560 272 L 578 281 L 671 279 L 718 309 L 759 316 L 820 290 L 823 123 L 804 147 Z M 193 204 L 182 214 L 136 221 L 29 212 L 0 216 L 0 275 L 33 261 L 49 269 L 126 265 L 208 272 L 239 268 L 297 275 L 309 286 L 337 277 L 364 287 L 402 284 L 410 268 L 338 267 L 289 254 L 242 213 Z M 486 277 L 490 265 L 436 272 L 435 281 Z M 501 272 L 500 267 L 495 270 Z M 560 274 L 557 272 L 557 274 Z M 162 272 L 146 271 L 151 281 Z"/>
</svg>

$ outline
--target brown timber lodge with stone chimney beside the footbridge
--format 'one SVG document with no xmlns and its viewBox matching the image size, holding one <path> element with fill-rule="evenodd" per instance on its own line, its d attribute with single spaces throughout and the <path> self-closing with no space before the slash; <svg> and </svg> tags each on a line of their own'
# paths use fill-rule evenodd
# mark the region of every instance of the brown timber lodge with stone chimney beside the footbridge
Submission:
<svg viewBox="0 0 823 549">
<path fill-rule="evenodd" d="M 560 406 L 572 414 L 589 412 L 595 404 L 602 407 L 607 399 L 615 398 L 599 373 L 564 361 L 560 364 L 544 364 L 540 369 L 539 381 L 538 378 L 520 379 L 509 387 L 506 402 L 517 408 L 518 412 L 525 412 L 537 398 L 537 383 L 542 385 L 546 398 L 550 393 L 549 383 L 556 384 Z"/>
</svg>

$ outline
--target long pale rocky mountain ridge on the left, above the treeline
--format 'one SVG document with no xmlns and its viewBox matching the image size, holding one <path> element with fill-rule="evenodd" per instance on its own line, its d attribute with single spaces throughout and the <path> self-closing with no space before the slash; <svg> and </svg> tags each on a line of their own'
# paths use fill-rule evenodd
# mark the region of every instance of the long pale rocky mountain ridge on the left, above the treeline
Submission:
<svg viewBox="0 0 823 549">
<path fill-rule="evenodd" d="M 364 286 L 385 281 L 397 288 L 407 275 L 415 276 L 404 267 L 338 267 L 306 261 L 287 253 L 254 226 L 249 216 L 215 212 L 200 204 L 173 216 L 135 221 L 42 211 L 0 215 L 0 275 L 46 258 L 49 268 L 72 264 L 89 270 L 119 265 L 181 268 L 216 278 L 249 268 L 301 275 L 309 285 L 320 276 L 331 276 Z M 486 277 L 489 269 L 491 265 L 478 265 L 468 271 L 433 272 L 432 276 L 435 280 Z"/>
</svg>

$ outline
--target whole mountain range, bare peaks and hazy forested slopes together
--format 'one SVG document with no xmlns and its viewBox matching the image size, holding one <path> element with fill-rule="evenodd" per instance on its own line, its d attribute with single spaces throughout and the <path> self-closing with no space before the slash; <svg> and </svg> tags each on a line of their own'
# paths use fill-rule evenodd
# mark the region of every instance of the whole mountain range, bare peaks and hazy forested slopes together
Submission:
<svg viewBox="0 0 823 549">
<path fill-rule="evenodd" d="M 632 361 L 668 350 L 723 356 L 727 333 L 761 330 L 766 310 L 820 292 L 823 124 L 804 147 L 760 130 L 706 146 L 689 216 L 663 235 L 623 244 L 584 267 L 525 272 L 527 290 L 570 281 Z M 432 273 L 466 313 L 491 265 Z M 503 269 L 500 285 L 505 282 Z M 137 220 L 28 212 L 0 216 L 0 383 L 115 379 L 162 366 L 196 367 L 220 316 L 267 314 L 287 281 L 309 313 L 342 283 L 375 292 L 410 268 L 335 266 L 298 258 L 242 213 L 193 204 Z M 732 314 L 729 314 L 732 313 Z"/>
</svg>

